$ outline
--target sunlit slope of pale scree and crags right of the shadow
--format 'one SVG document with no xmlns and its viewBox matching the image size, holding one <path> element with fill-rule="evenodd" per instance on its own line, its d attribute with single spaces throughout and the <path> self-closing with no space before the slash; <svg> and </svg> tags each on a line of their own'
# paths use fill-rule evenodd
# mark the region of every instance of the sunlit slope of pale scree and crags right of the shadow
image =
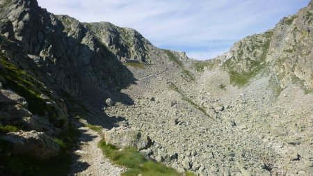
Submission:
<svg viewBox="0 0 313 176">
<path fill-rule="evenodd" d="M 177 70 L 139 80 L 122 90 L 134 105 L 106 113 L 146 131 L 155 144 L 143 152 L 177 170 L 312 175 L 312 10 L 211 61 L 182 62 L 194 80 Z"/>
</svg>

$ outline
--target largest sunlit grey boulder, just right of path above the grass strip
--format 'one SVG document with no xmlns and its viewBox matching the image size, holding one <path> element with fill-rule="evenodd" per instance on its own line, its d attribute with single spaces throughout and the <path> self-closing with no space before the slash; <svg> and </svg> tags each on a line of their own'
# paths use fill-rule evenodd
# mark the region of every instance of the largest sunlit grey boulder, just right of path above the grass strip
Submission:
<svg viewBox="0 0 313 176">
<path fill-rule="evenodd" d="M 152 145 L 149 136 L 140 131 L 128 128 L 113 128 L 104 134 L 106 143 L 116 147 L 136 147 L 138 150 L 147 149 Z"/>
</svg>

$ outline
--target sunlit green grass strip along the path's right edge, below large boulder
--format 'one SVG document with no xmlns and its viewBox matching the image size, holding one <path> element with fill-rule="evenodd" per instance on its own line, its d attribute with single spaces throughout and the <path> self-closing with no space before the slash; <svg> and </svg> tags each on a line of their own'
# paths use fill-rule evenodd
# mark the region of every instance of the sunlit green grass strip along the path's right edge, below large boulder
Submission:
<svg viewBox="0 0 313 176">
<path fill-rule="evenodd" d="M 147 161 L 141 153 L 134 147 L 125 147 L 118 150 L 114 145 L 106 144 L 104 140 L 100 141 L 99 147 L 104 154 L 113 161 L 113 163 L 129 168 L 122 176 L 137 176 L 139 174 L 145 176 L 181 176 L 173 168 L 168 168 L 162 163 Z M 188 175 L 194 176 L 188 172 Z"/>
</svg>

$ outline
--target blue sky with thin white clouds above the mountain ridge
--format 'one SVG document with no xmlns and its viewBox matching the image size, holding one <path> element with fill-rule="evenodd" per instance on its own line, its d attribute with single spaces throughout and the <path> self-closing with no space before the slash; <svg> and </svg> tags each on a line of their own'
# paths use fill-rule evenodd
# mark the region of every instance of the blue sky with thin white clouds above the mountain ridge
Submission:
<svg viewBox="0 0 313 176">
<path fill-rule="evenodd" d="M 136 29 L 153 45 L 198 60 L 234 42 L 273 29 L 310 0 L 38 0 L 51 13 L 80 22 L 111 22 Z"/>
</svg>

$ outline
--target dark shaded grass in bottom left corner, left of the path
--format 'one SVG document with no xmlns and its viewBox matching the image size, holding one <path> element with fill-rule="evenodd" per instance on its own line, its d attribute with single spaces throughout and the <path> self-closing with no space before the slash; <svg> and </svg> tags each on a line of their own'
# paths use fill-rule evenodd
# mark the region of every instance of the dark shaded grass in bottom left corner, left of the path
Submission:
<svg viewBox="0 0 313 176">
<path fill-rule="evenodd" d="M 6 175 L 67 175 L 72 163 L 71 149 L 77 143 L 79 131 L 69 127 L 61 133 L 55 141 L 61 149 L 57 157 L 46 160 L 35 159 L 27 155 L 4 155 L 1 156 L 0 168 Z M 10 143 L 0 140 L 0 149 L 10 152 Z"/>
</svg>

